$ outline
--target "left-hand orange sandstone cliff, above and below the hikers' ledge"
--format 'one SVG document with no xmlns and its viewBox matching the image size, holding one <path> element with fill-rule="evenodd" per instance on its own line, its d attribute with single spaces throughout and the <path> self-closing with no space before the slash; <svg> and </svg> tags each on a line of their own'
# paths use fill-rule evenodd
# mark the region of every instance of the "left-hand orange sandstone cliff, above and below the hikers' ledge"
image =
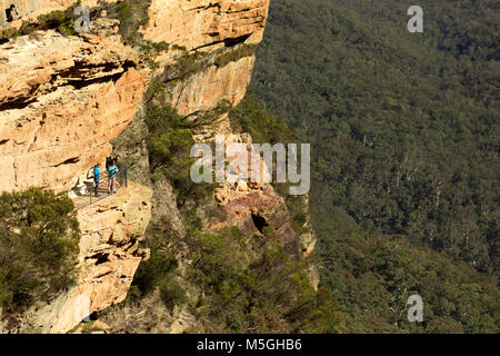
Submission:
<svg viewBox="0 0 500 356">
<path fill-rule="evenodd" d="M 16 4 L 27 14 L 23 20 L 30 20 L 66 9 L 70 1 Z M 102 30 L 99 26 L 92 28 Z M 132 120 L 148 70 L 139 68 L 137 51 L 120 37 L 100 31 L 16 37 L 0 46 L 0 190 L 71 189 L 96 162 L 104 161 L 110 141 Z M 138 241 L 150 220 L 151 196 L 149 188 L 130 182 L 117 196 L 79 210 L 77 286 L 50 305 L 29 310 L 18 330 L 64 333 L 91 313 L 123 300 L 147 257 Z"/>
</svg>

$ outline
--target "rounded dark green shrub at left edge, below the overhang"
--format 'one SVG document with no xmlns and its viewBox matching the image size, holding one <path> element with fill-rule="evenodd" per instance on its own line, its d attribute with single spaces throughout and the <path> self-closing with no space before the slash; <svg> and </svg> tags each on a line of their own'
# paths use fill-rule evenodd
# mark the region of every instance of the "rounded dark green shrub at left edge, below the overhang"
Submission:
<svg viewBox="0 0 500 356">
<path fill-rule="evenodd" d="M 76 278 L 80 228 L 72 200 L 31 188 L 0 196 L 0 307 L 48 301 Z"/>
</svg>

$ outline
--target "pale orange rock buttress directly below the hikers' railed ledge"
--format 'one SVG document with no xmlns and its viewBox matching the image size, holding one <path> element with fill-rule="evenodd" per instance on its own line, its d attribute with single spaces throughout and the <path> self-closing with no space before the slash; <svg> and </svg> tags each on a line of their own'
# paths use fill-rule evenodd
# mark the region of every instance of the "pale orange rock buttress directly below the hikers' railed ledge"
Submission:
<svg viewBox="0 0 500 356">
<path fill-rule="evenodd" d="M 77 285 L 28 317 L 31 328 L 66 333 L 93 312 L 122 301 L 147 251 L 139 241 L 151 218 L 152 190 L 127 188 L 78 211 L 80 239 Z"/>
</svg>

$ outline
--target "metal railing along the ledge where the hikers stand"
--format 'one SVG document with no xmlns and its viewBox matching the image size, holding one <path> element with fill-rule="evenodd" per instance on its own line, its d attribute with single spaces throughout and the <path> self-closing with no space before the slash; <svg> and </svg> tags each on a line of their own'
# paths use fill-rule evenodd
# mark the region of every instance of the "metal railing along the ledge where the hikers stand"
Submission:
<svg viewBox="0 0 500 356">
<path fill-rule="evenodd" d="M 77 197 L 73 199 L 74 208 L 82 209 L 84 207 L 88 207 L 89 205 L 96 204 L 102 199 L 106 199 L 110 196 L 108 192 L 109 187 L 109 176 L 108 172 L 101 172 L 101 179 L 99 181 L 99 189 L 98 189 L 98 196 L 96 197 L 96 186 L 94 186 L 94 179 L 93 176 L 87 175 L 87 180 L 83 182 L 84 188 L 80 188 L 80 191 L 84 191 L 83 194 L 78 194 Z M 118 174 L 114 179 L 114 192 L 120 190 L 123 187 L 129 186 L 129 179 L 128 179 L 128 172 L 127 167 L 124 165 L 118 165 Z"/>
</svg>

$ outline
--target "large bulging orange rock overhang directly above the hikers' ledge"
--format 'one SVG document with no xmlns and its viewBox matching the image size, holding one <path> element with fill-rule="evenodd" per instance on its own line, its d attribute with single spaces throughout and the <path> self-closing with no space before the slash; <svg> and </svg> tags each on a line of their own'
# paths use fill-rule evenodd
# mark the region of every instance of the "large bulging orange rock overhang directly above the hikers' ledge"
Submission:
<svg viewBox="0 0 500 356">
<path fill-rule="evenodd" d="M 68 190 L 106 158 L 144 91 L 118 39 L 48 31 L 0 46 L 0 191 Z"/>
</svg>

